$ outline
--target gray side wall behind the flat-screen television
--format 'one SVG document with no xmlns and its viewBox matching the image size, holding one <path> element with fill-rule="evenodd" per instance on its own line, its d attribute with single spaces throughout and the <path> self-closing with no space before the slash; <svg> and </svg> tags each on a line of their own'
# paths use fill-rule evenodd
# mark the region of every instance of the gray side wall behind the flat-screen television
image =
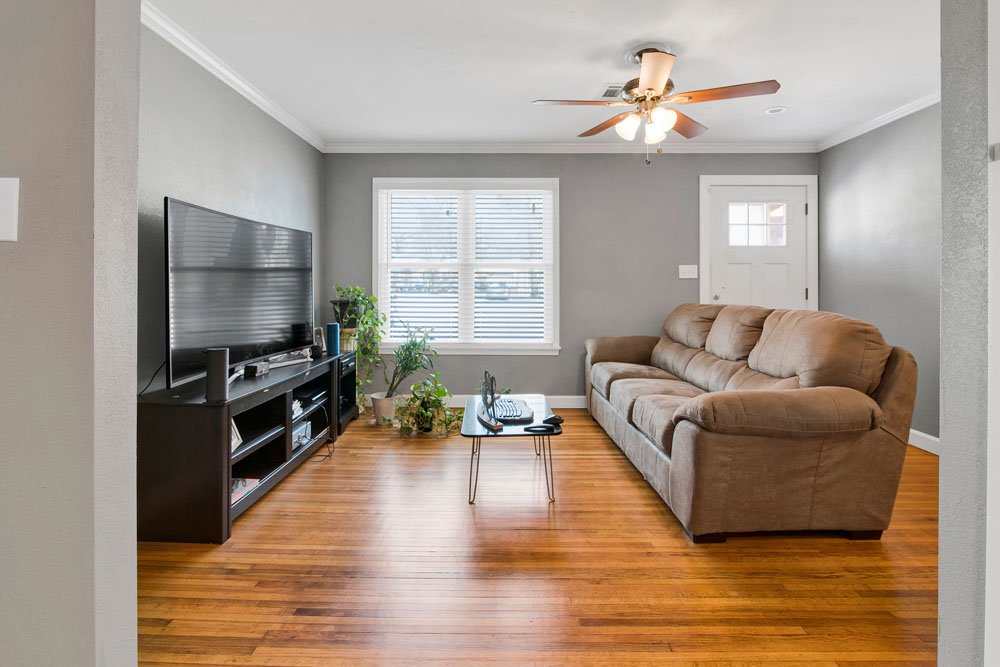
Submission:
<svg viewBox="0 0 1000 667">
<path fill-rule="evenodd" d="M 141 46 L 140 388 L 165 357 L 164 196 L 313 232 L 318 303 L 324 295 L 320 152 L 147 28 Z"/>
</svg>

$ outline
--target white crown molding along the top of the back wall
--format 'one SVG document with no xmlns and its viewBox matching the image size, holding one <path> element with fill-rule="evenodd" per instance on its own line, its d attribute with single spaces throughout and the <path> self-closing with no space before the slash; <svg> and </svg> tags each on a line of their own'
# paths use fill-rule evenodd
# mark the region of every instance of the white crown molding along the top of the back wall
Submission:
<svg viewBox="0 0 1000 667">
<path fill-rule="evenodd" d="M 643 144 L 633 143 L 350 143 L 330 141 L 324 153 L 572 153 L 642 155 Z M 679 153 L 815 153 L 816 144 L 803 142 L 688 142 L 667 143 L 663 154 Z M 650 155 L 654 153 L 651 151 Z"/>
</svg>

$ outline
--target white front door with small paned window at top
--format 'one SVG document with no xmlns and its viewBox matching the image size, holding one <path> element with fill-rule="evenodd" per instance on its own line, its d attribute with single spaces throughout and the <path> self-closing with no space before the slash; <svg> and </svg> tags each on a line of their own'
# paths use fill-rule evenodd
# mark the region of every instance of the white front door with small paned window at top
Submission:
<svg viewBox="0 0 1000 667">
<path fill-rule="evenodd" d="M 702 301 L 815 309 L 807 186 L 704 187 Z"/>
</svg>

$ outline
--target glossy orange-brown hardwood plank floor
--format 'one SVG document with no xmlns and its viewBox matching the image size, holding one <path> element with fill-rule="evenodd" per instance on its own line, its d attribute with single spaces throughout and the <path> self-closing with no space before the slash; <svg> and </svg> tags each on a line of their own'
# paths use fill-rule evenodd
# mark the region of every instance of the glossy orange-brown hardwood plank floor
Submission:
<svg viewBox="0 0 1000 667">
<path fill-rule="evenodd" d="M 933 664 L 937 458 L 907 454 L 880 542 L 692 545 L 583 410 L 556 502 L 531 441 L 354 422 L 222 546 L 139 545 L 143 664 Z"/>
</svg>

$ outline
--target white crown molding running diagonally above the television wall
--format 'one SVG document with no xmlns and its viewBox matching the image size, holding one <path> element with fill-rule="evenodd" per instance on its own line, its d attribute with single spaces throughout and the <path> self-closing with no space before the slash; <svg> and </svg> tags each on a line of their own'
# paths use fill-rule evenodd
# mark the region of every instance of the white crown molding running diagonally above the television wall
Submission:
<svg viewBox="0 0 1000 667">
<path fill-rule="evenodd" d="M 142 24 L 165 39 L 181 53 L 195 61 L 218 77 L 223 83 L 247 98 L 261 111 L 268 114 L 306 142 L 322 150 L 323 140 L 302 121 L 281 108 L 274 100 L 255 88 L 249 81 L 237 74 L 186 30 L 174 23 L 166 14 L 157 9 L 149 0 L 142 0 L 140 18 Z"/>
</svg>

